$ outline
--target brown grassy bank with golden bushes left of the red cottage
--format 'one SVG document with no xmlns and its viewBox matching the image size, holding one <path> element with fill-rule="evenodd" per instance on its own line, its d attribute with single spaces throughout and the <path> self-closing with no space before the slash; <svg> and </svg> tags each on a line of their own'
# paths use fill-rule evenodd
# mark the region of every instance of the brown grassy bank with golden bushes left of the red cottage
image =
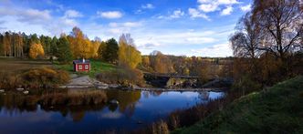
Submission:
<svg viewBox="0 0 303 134">
<path fill-rule="evenodd" d="M 0 57 L 0 88 L 52 88 L 68 80 L 68 72 L 47 60 Z"/>
</svg>

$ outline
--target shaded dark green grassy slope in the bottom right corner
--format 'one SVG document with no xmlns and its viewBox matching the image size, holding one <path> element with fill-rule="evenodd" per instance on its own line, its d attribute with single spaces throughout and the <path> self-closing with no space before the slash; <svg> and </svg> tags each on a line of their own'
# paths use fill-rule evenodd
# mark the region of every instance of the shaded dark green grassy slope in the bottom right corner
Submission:
<svg viewBox="0 0 303 134">
<path fill-rule="evenodd" d="M 189 128 L 173 133 L 303 133 L 303 77 L 235 100 Z"/>
</svg>

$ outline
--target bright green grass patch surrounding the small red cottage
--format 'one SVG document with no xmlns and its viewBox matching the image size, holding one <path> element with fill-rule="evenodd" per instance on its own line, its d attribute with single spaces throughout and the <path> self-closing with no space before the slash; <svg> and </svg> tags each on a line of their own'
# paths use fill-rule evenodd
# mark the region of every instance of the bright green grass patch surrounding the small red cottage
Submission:
<svg viewBox="0 0 303 134">
<path fill-rule="evenodd" d="M 89 77 L 95 77 L 98 73 L 102 72 L 110 72 L 119 69 L 117 66 L 101 62 L 99 60 L 90 60 L 90 71 L 89 72 L 74 72 L 73 64 L 70 63 L 68 65 L 60 65 L 55 64 L 58 69 L 63 69 L 68 71 L 69 73 L 75 73 L 77 75 L 89 75 Z"/>
</svg>

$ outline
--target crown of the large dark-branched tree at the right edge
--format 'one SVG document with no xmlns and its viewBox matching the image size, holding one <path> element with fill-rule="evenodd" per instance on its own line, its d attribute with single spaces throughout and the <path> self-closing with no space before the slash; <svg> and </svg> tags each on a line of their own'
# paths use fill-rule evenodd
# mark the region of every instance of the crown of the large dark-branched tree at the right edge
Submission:
<svg viewBox="0 0 303 134">
<path fill-rule="evenodd" d="M 263 31 L 260 48 L 286 60 L 292 47 L 300 47 L 303 10 L 300 0 L 255 0 L 253 14 Z"/>
</svg>

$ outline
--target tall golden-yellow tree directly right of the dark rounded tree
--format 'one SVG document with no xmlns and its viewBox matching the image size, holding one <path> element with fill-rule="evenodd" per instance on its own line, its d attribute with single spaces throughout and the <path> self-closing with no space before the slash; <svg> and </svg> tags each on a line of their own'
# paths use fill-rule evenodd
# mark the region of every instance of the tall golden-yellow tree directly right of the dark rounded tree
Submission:
<svg viewBox="0 0 303 134">
<path fill-rule="evenodd" d="M 131 34 L 122 34 L 119 46 L 119 65 L 136 68 L 141 63 L 141 52 L 135 47 Z"/>
</svg>

